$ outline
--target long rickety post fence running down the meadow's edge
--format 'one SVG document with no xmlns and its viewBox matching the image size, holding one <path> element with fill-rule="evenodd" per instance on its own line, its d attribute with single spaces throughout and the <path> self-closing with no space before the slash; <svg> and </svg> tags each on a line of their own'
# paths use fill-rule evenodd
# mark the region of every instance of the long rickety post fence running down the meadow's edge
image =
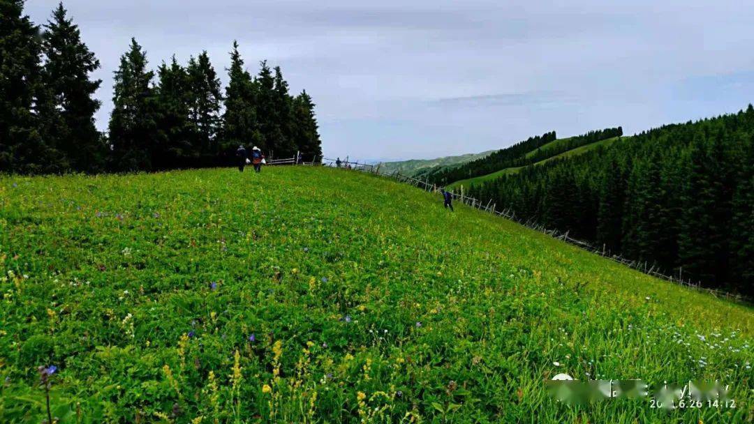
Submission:
<svg viewBox="0 0 754 424">
<path fill-rule="evenodd" d="M 416 188 L 421 188 L 421 190 L 429 191 L 432 193 L 437 193 L 437 191 L 440 191 L 440 188 L 442 188 L 438 185 L 431 184 L 427 179 L 422 181 L 419 178 L 414 178 L 409 175 L 403 175 L 399 171 L 380 172 L 379 165 L 373 165 L 370 163 L 359 163 L 358 161 L 352 162 L 348 160 L 348 157 L 346 157 L 345 160 L 340 160 L 340 159 L 333 160 L 328 157 L 320 157 L 320 162 L 317 162 L 316 159 L 317 158 L 315 157 L 311 163 L 299 163 L 299 164 L 336 166 L 342 169 L 351 169 L 351 170 L 356 170 L 360 172 L 368 172 L 368 173 L 380 175 L 386 178 L 393 178 L 397 181 L 400 181 L 409 185 L 413 185 Z M 449 193 L 451 194 L 453 200 L 457 202 L 461 202 L 464 205 L 470 206 L 474 209 L 479 209 L 482 212 L 490 213 L 492 215 L 498 215 L 499 217 L 506 218 L 510 221 L 514 221 L 525 227 L 529 227 L 532 230 L 536 230 L 538 232 L 547 234 L 548 236 L 551 236 L 554 239 L 562 240 L 566 243 L 571 244 L 572 246 L 577 246 L 581 249 L 587 250 L 588 252 L 592 252 L 596 255 L 600 255 L 603 258 L 608 258 L 611 261 L 618 262 L 619 264 L 623 264 L 627 267 L 633 268 L 634 270 L 638 270 L 647 275 L 654 276 L 659 279 L 664 279 L 668 282 L 673 282 L 678 285 L 683 285 L 688 288 L 693 288 L 694 290 L 697 290 L 697 291 L 703 291 L 703 292 L 712 294 L 715 297 L 722 297 L 727 300 L 733 300 L 738 303 L 752 304 L 752 299 L 749 297 L 745 297 L 742 294 L 734 294 L 734 293 L 730 293 L 728 291 L 724 291 L 724 290 L 720 290 L 716 288 L 702 287 L 700 281 L 694 281 L 692 279 L 684 279 L 682 278 L 682 274 L 680 273 L 679 273 L 679 276 L 677 277 L 669 276 L 665 273 L 662 273 L 661 268 L 658 267 L 657 264 L 651 264 L 648 261 L 634 261 L 628 258 L 624 258 L 621 255 L 614 255 L 608 249 L 605 249 L 605 246 L 602 246 L 600 248 L 598 246 L 594 246 L 591 243 L 574 239 L 573 237 L 569 236 L 569 231 L 562 232 L 559 230 L 547 229 L 546 227 L 544 227 L 544 225 L 537 224 L 533 222 L 531 219 L 524 220 L 523 218 L 517 217 L 516 214 L 511 209 L 498 210 L 497 204 L 492 203 L 492 200 L 489 200 L 485 203 L 474 197 L 469 197 L 465 195 L 463 186 L 461 186 L 458 192 L 456 192 L 455 190 L 449 190 Z"/>
</svg>

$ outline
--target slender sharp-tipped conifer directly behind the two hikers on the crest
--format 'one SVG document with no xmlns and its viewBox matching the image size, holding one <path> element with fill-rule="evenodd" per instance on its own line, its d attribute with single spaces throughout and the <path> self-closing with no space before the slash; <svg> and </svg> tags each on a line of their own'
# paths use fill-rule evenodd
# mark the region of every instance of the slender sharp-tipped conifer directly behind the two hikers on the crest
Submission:
<svg viewBox="0 0 754 424">
<path fill-rule="evenodd" d="M 238 145 L 259 145 L 262 134 L 256 123 L 256 83 L 244 69 L 244 59 L 238 52 L 238 42 L 233 42 L 230 82 L 225 87 L 225 112 L 222 115 L 221 150 L 228 156 Z"/>
</svg>

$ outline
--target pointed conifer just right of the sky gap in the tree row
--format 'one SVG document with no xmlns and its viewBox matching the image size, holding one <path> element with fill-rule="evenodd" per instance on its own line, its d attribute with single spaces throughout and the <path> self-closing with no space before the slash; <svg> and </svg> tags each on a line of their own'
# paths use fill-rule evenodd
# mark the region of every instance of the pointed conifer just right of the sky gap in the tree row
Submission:
<svg viewBox="0 0 754 424">
<path fill-rule="evenodd" d="M 115 71 L 109 127 L 113 169 L 152 169 L 152 155 L 159 143 L 152 78 L 154 72 L 147 70 L 146 53 L 131 38 L 130 49 L 121 56 L 121 65 Z"/>
</svg>

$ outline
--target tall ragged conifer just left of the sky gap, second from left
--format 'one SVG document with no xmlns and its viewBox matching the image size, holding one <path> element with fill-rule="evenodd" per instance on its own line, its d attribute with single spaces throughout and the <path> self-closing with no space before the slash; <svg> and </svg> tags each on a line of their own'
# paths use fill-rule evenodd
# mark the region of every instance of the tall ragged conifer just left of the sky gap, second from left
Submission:
<svg viewBox="0 0 754 424">
<path fill-rule="evenodd" d="M 44 84 L 51 91 L 62 120 L 57 131 L 57 148 L 71 169 L 101 171 L 106 150 L 94 126 L 100 101 L 92 96 L 102 81 L 89 78 L 91 72 L 100 68 L 100 62 L 81 41 L 78 26 L 66 17 L 63 3 L 45 28 Z"/>
</svg>

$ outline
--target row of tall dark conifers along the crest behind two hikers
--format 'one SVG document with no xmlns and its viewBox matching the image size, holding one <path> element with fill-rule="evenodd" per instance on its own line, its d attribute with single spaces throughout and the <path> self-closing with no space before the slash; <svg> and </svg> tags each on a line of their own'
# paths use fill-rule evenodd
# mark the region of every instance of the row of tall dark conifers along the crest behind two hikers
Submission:
<svg viewBox="0 0 754 424">
<path fill-rule="evenodd" d="M 232 163 L 238 145 L 275 157 L 321 158 L 311 96 L 289 93 L 280 67 L 251 75 L 238 43 L 228 86 L 206 51 L 157 72 L 135 39 L 115 71 L 106 133 L 95 127 L 100 62 L 58 5 L 36 26 L 23 0 L 0 0 L 0 171 L 18 173 L 158 170 Z"/>
</svg>

